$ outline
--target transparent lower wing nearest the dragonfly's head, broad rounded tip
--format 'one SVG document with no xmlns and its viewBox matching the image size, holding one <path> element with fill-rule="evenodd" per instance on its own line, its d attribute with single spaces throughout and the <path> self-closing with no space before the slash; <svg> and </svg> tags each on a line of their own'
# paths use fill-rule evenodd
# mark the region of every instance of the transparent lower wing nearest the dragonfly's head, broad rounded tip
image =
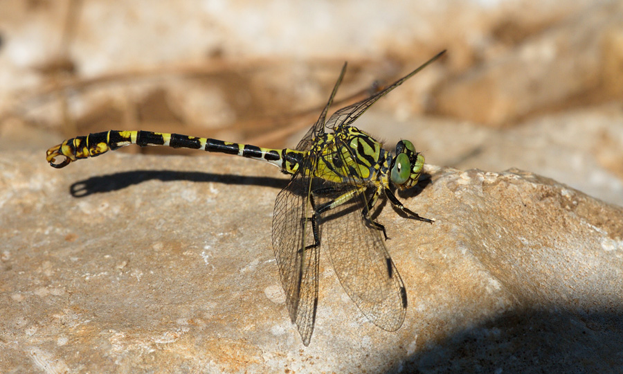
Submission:
<svg viewBox="0 0 623 374">
<path fill-rule="evenodd" d="M 339 158 L 341 162 L 333 162 L 333 165 L 341 165 L 342 175 L 348 177 L 340 188 L 318 196 L 316 206 L 345 194 L 352 197 L 320 215 L 319 224 L 324 238 L 322 245 L 329 249 L 329 257 L 341 285 L 365 317 L 383 330 L 394 331 L 404 321 L 406 289 L 387 252 L 382 231 L 363 217 L 363 212 L 372 208 L 367 205 L 377 187 L 369 187 L 356 173 L 358 169 L 349 167 L 356 158 L 347 145 L 338 141 L 336 150 L 339 151 L 331 157 Z"/>
</svg>

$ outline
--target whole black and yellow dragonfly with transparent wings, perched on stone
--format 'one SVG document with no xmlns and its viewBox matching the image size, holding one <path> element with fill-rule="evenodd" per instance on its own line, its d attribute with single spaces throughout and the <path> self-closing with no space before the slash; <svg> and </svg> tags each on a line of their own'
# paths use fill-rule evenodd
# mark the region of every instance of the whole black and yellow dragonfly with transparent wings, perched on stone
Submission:
<svg viewBox="0 0 623 374">
<path fill-rule="evenodd" d="M 386 228 L 372 217 L 379 199 L 407 217 L 433 223 L 410 211 L 395 190 L 417 184 L 424 156 L 401 140 L 395 152 L 352 124 L 379 98 L 437 60 L 445 51 L 358 103 L 327 113 L 344 77 L 342 67 L 327 104 L 296 148 L 282 150 L 181 134 L 109 130 L 78 136 L 50 148 L 46 160 L 63 168 L 78 159 L 136 144 L 192 148 L 267 161 L 291 175 L 277 195 L 272 244 L 292 323 L 305 346 L 311 341 L 318 308 L 318 262 L 327 249 L 345 292 L 374 325 L 398 330 L 405 319 L 407 292 L 386 248 Z M 63 157 L 62 161 L 56 159 Z"/>
</svg>

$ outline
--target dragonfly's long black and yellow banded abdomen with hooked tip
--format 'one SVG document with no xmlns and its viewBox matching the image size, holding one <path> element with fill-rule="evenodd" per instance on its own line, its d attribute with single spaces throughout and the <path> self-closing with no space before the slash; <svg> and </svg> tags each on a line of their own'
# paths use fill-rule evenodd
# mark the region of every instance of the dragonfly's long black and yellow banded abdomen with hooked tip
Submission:
<svg viewBox="0 0 623 374">
<path fill-rule="evenodd" d="M 141 147 L 164 145 L 171 148 L 190 148 L 236 154 L 251 159 L 259 159 L 276 165 L 289 174 L 298 170 L 298 165 L 305 152 L 283 149 L 274 150 L 255 145 L 231 143 L 217 139 L 199 138 L 181 134 L 167 134 L 150 131 L 118 131 L 96 132 L 87 136 L 68 139 L 50 148 L 46 159 L 55 168 L 63 168 L 72 161 L 96 157 L 109 150 L 117 150 L 125 145 L 136 144 Z M 54 163 L 56 157 L 65 157 L 60 163 Z"/>
</svg>

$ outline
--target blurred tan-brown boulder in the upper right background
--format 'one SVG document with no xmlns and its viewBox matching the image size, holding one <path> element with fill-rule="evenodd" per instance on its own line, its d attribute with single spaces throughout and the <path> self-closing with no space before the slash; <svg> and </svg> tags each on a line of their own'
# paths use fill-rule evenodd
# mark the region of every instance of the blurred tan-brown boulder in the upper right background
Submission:
<svg viewBox="0 0 623 374">
<path fill-rule="evenodd" d="M 538 112 L 620 98 L 623 4 L 596 3 L 435 94 L 435 112 L 494 127 Z"/>
</svg>

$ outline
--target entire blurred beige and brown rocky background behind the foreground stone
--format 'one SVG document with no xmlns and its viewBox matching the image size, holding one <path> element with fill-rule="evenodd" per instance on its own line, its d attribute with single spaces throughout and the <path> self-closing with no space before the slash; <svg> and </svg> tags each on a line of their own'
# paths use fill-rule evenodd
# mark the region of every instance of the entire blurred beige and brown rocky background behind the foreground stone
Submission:
<svg viewBox="0 0 623 374">
<path fill-rule="evenodd" d="M 356 125 L 623 205 L 623 1 L 2 0 L 0 152 L 111 129 L 294 147 L 343 62 L 333 109 L 443 49 Z"/>
</svg>

